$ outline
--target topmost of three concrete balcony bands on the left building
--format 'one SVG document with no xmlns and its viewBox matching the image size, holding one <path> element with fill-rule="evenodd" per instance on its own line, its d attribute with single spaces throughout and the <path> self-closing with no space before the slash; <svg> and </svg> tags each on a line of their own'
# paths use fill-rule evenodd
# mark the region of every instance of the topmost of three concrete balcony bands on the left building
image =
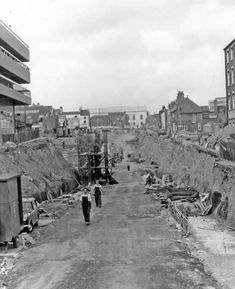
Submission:
<svg viewBox="0 0 235 289">
<path fill-rule="evenodd" d="M 0 45 L 20 61 L 29 61 L 28 45 L 0 20 Z"/>
</svg>

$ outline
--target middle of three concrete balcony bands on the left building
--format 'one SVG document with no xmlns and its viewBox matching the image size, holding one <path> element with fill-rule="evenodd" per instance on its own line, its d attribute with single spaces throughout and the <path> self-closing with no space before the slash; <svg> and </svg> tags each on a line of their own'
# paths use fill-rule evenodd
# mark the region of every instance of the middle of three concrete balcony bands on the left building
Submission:
<svg viewBox="0 0 235 289">
<path fill-rule="evenodd" d="M 30 83 L 29 68 L 1 46 L 0 73 L 17 83 Z"/>
</svg>

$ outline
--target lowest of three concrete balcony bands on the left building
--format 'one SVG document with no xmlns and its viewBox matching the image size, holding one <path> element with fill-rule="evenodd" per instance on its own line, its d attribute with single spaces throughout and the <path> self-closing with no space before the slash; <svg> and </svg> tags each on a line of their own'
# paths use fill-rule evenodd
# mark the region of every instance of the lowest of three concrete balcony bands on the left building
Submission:
<svg viewBox="0 0 235 289">
<path fill-rule="evenodd" d="M 30 105 L 30 91 L 0 76 L 0 100 L 7 99 L 14 105 Z"/>
</svg>

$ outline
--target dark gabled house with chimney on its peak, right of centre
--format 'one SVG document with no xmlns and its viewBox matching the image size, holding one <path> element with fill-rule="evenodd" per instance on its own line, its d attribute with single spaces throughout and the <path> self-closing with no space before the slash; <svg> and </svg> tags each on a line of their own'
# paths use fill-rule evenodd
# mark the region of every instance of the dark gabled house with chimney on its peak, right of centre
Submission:
<svg viewBox="0 0 235 289">
<path fill-rule="evenodd" d="M 173 133 L 185 130 L 189 132 L 202 131 L 202 109 L 183 91 L 179 91 L 175 101 L 168 106 L 170 114 L 170 127 Z"/>
</svg>

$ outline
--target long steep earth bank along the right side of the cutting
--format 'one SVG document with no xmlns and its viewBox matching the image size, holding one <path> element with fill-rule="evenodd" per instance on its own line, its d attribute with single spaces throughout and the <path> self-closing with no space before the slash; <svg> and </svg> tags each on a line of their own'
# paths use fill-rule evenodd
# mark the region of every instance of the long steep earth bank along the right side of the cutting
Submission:
<svg viewBox="0 0 235 289">
<path fill-rule="evenodd" d="M 178 144 L 146 132 L 135 137 L 135 148 L 146 159 L 146 165 L 157 162 L 159 174 L 171 174 L 178 183 L 200 192 L 211 190 L 218 201 L 213 215 L 235 228 L 235 166 L 232 163 L 199 153 L 193 145 Z M 223 216 L 218 211 L 221 202 L 228 202 L 227 213 Z"/>
</svg>

